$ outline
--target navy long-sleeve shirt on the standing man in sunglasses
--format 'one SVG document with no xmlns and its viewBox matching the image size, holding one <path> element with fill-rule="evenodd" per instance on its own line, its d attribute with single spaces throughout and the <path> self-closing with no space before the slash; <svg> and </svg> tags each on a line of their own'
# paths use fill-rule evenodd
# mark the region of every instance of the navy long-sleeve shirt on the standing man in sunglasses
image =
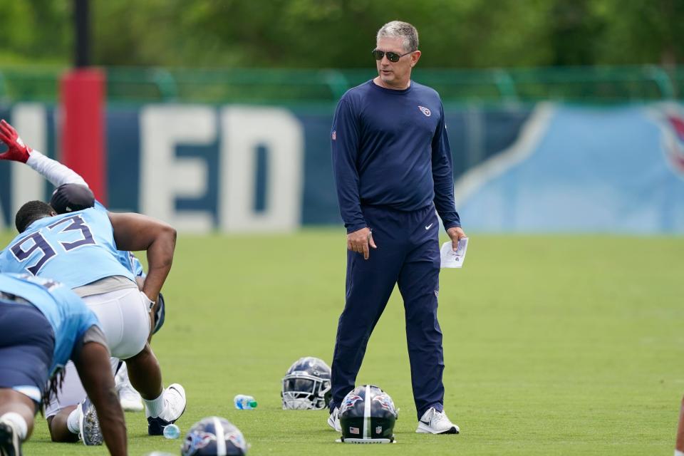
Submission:
<svg viewBox="0 0 684 456">
<path fill-rule="evenodd" d="M 460 227 L 440 95 L 411 81 L 392 90 L 368 81 L 345 93 L 331 131 L 333 171 L 348 233 L 367 226 L 361 206 L 400 211 L 434 202 L 445 229 Z"/>
</svg>

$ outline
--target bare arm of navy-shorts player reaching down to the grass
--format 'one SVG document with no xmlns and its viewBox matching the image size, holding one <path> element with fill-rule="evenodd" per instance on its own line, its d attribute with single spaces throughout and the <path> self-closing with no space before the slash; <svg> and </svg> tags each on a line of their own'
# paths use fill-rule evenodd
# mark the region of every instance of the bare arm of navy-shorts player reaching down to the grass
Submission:
<svg viewBox="0 0 684 456">
<path fill-rule="evenodd" d="M 97 326 L 91 326 L 88 333 Z M 100 429 L 105 440 L 105 445 L 111 455 L 125 456 L 128 454 L 126 442 L 126 425 L 123 418 L 123 410 L 114 387 L 109 351 L 104 343 L 103 333 L 97 329 L 103 342 L 87 341 L 83 343 L 72 360 L 81 377 L 83 388 L 86 389 L 88 398 L 95 405 L 100 420 Z"/>
</svg>

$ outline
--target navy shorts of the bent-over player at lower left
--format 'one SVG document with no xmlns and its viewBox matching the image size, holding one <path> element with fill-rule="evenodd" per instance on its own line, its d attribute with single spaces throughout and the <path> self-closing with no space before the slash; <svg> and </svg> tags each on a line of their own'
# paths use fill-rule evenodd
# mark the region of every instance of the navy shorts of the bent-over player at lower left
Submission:
<svg viewBox="0 0 684 456">
<path fill-rule="evenodd" d="M 55 334 L 31 304 L 0 301 L 0 388 L 12 388 L 41 403 L 50 375 Z"/>
</svg>

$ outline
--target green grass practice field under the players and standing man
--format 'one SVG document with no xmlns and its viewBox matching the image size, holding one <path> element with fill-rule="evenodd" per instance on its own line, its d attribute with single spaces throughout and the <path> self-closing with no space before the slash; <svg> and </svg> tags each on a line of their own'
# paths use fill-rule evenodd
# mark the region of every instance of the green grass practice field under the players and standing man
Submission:
<svg viewBox="0 0 684 456">
<path fill-rule="evenodd" d="M 445 408 L 461 435 L 417 435 L 398 293 L 358 384 L 400 408 L 396 445 L 335 443 L 323 411 L 284 411 L 300 356 L 331 361 L 343 306 L 343 232 L 181 236 L 152 347 L 165 383 L 200 418 L 237 425 L 252 455 L 670 455 L 684 394 L 684 239 L 471 234 L 465 268 L 442 272 Z M 9 236 L 5 237 L 9 240 Z M 380 246 L 382 248 L 382 246 Z M 259 407 L 234 410 L 237 393 Z M 131 455 L 178 454 L 126 415 Z M 103 455 L 53 444 L 44 421 L 26 455 Z"/>
</svg>

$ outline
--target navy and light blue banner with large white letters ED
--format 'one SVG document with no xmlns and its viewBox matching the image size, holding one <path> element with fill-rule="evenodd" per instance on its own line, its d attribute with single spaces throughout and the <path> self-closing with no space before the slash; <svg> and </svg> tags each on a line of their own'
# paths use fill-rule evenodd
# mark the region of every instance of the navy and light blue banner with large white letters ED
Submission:
<svg viewBox="0 0 684 456">
<path fill-rule="evenodd" d="M 182 232 L 338 224 L 333 106 L 142 105 L 105 112 L 108 206 Z M 684 233 L 684 107 L 447 108 L 455 198 L 469 232 Z M 0 105 L 51 157 L 59 110 Z M 0 149 L 1 150 L 1 149 Z M 407 182 L 410 185 L 410 182 Z M 0 229 L 52 188 L 0 162 Z"/>
</svg>

